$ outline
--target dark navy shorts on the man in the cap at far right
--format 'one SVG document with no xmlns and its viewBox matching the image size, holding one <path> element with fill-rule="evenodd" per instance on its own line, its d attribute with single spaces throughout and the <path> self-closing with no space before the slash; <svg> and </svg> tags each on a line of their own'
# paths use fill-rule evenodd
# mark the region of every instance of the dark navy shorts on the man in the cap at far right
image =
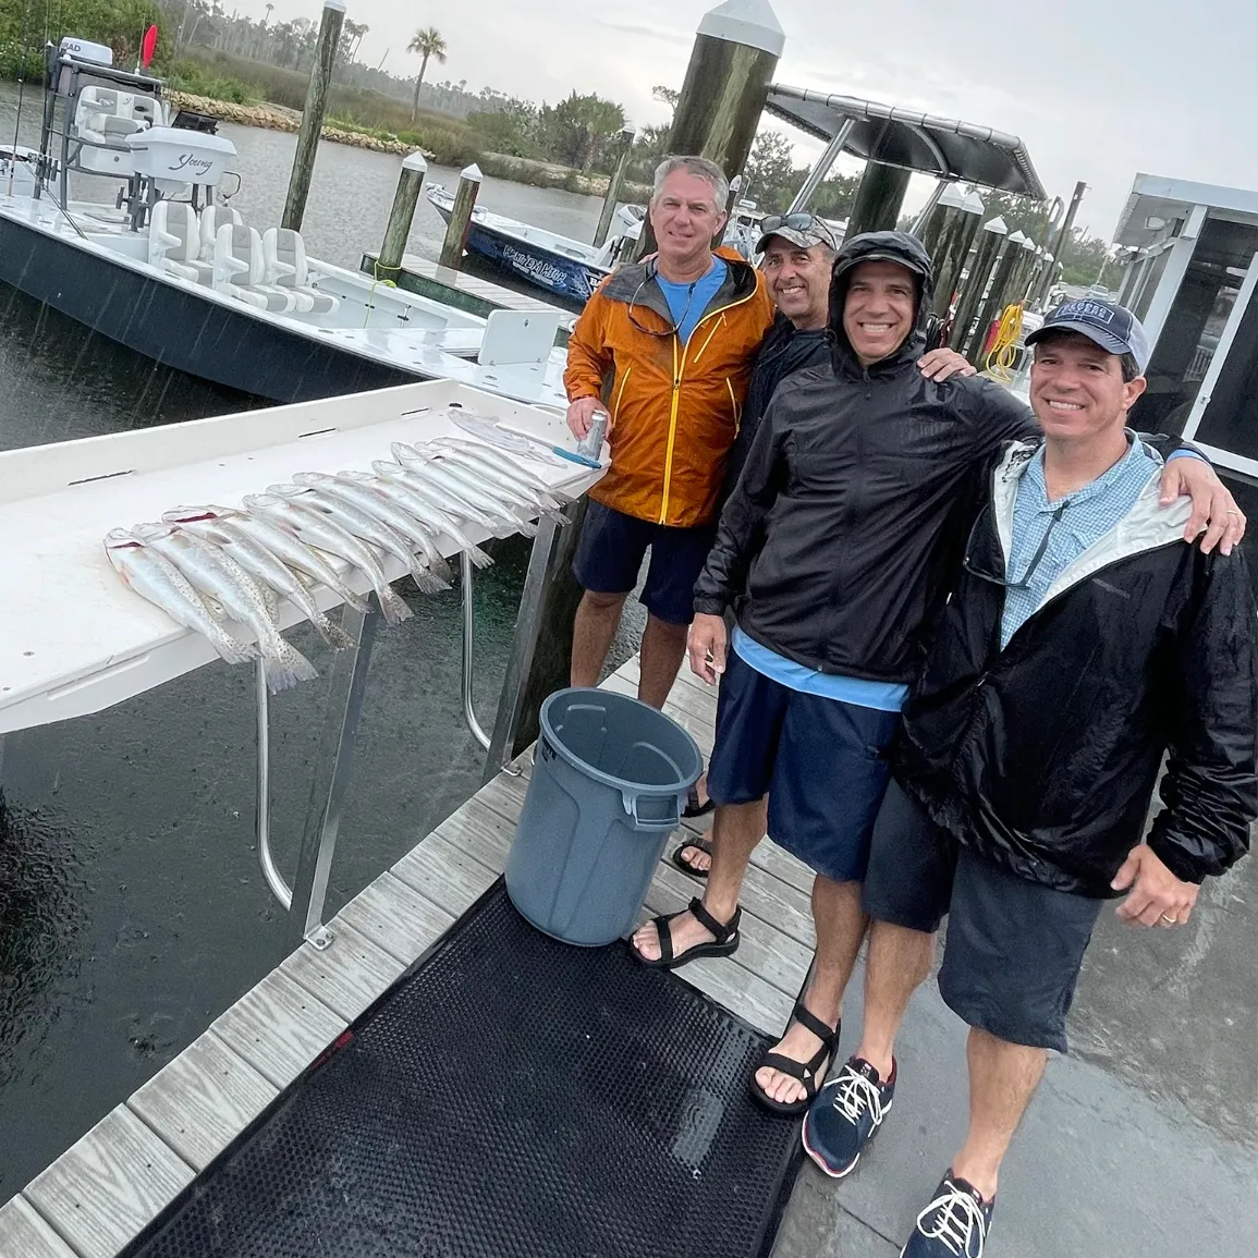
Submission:
<svg viewBox="0 0 1258 1258">
<path fill-rule="evenodd" d="M 1103 899 L 1019 878 L 957 843 L 896 782 L 873 833 L 864 911 L 936 931 L 944 1003 L 970 1027 L 1066 1052 L 1066 1015 Z"/>
</svg>

